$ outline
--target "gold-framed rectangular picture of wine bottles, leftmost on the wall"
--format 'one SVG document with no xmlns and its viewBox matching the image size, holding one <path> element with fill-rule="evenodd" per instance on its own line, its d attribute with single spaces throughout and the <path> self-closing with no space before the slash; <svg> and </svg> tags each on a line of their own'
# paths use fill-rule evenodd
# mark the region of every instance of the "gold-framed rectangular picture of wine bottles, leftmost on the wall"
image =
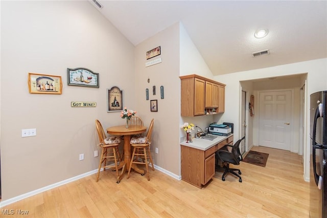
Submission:
<svg viewBox="0 0 327 218">
<path fill-rule="evenodd" d="M 37 94 L 61 94 L 61 76 L 29 73 L 29 91 Z"/>
</svg>

